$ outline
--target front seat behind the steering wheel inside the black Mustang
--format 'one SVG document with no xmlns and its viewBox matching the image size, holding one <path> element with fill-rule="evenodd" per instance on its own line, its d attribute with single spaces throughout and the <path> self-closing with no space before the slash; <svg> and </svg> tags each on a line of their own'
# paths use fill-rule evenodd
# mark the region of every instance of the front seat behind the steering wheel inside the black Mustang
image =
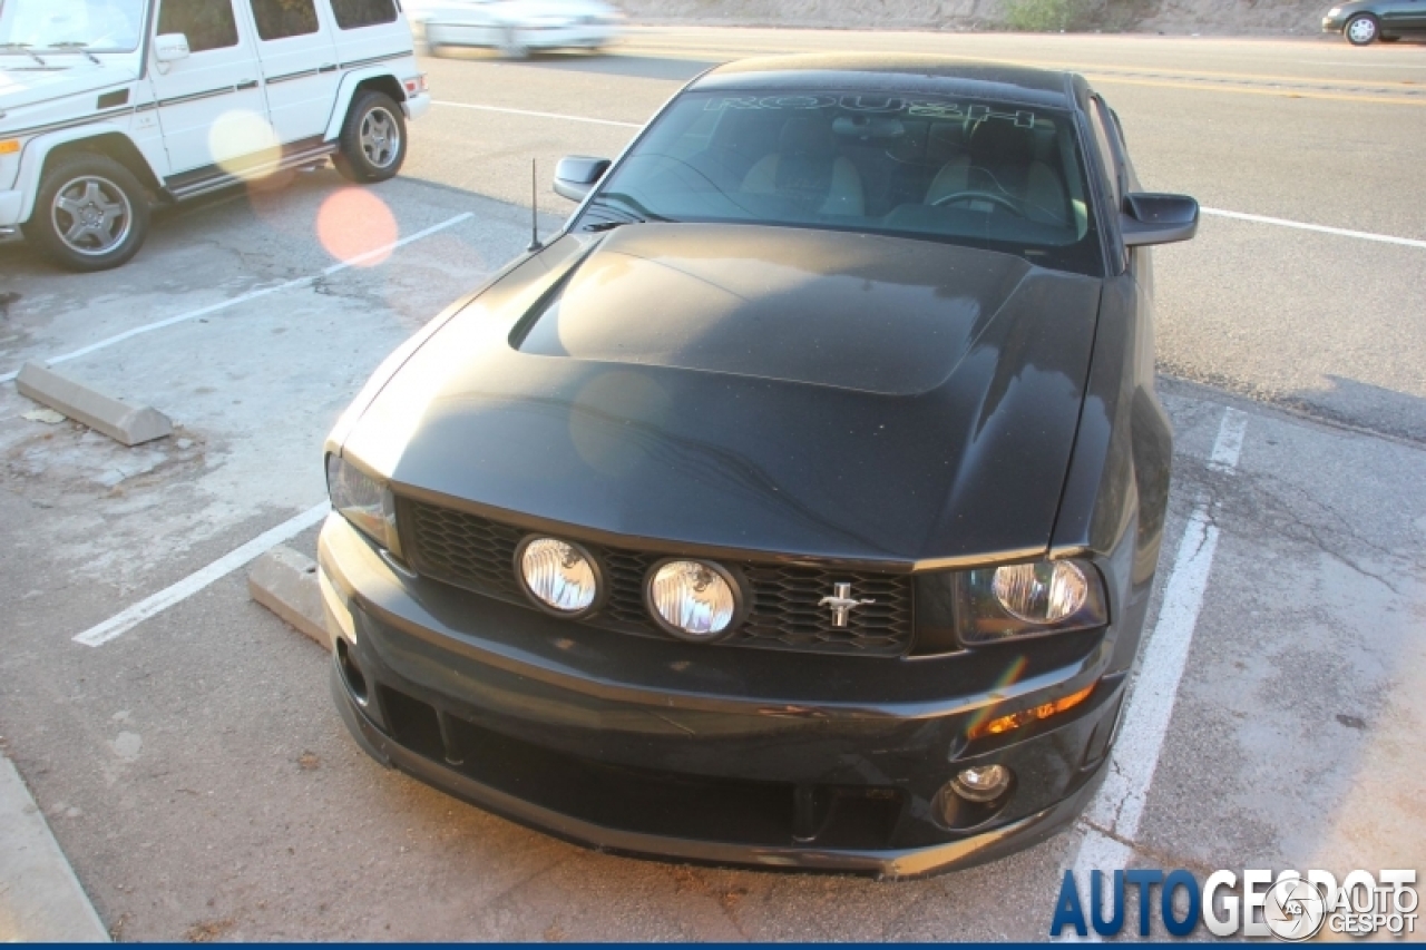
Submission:
<svg viewBox="0 0 1426 950">
<path fill-rule="evenodd" d="M 983 118 L 975 124 L 965 154 L 941 167 L 927 188 L 925 204 L 958 191 L 1005 195 L 1031 221 L 1067 224 L 1070 220 L 1060 174 L 1035 155 L 1035 130 L 1002 118 Z"/>
</svg>

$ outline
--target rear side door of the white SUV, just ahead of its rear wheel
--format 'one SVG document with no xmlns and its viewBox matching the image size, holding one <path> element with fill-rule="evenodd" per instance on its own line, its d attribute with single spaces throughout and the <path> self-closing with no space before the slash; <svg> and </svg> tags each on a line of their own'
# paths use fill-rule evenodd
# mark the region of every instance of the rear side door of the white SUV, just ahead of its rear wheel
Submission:
<svg viewBox="0 0 1426 950">
<path fill-rule="evenodd" d="M 268 114 L 282 144 L 327 131 L 337 86 L 335 24 L 317 0 L 240 0 L 252 13 Z"/>
</svg>

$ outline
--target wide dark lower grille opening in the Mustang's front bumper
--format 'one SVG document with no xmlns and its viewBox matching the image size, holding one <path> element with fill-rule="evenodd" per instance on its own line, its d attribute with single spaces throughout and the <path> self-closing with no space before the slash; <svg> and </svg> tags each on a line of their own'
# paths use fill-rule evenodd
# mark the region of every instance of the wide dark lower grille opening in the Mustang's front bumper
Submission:
<svg viewBox="0 0 1426 950">
<path fill-rule="evenodd" d="M 456 716 L 446 716 L 442 742 L 434 706 L 386 686 L 381 698 L 401 745 L 482 785 L 603 827 L 739 844 L 880 849 L 890 846 L 901 814 L 897 789 L 813 786 L 816 834 L 799 840 L 791 783 L 610 765 Z"/>
</svg>

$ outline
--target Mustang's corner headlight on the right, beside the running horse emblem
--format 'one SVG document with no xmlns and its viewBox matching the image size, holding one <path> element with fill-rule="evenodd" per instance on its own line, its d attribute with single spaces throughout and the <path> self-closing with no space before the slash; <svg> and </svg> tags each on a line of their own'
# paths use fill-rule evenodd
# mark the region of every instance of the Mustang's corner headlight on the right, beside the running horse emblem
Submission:
<svg viewBox="0 0 1426 950">
<path fill-rule="evenodd" d="M 967 646 L 1108 622 L 1104 581 L 1088 561 L 1014 563 L 955 578 L 955 629 Z"/>
</svg>

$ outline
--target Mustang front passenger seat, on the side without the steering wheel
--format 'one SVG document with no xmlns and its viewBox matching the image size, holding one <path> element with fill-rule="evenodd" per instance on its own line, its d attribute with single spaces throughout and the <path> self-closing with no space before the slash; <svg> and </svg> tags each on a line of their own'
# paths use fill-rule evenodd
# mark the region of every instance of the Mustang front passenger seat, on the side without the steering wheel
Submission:
<svg viewBox="0 0 1426 950">
<path fill-rule="evenodd" d="M 747 170 L 743 191 L 790 198 L 810 214 L 861 217 L 866 211 L 857 167 L 837 154 L 831 127 L 810 116 L 787 120 L 777 151 Z"/>
</svg>

